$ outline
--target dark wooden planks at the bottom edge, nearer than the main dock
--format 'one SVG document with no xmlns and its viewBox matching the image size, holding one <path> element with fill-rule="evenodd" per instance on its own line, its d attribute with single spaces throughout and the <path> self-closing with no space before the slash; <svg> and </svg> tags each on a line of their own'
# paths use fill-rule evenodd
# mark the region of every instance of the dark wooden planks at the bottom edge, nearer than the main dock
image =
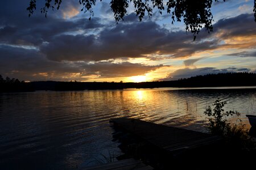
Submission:
<svg viewBox="0 0 256 170">
<path fill-rule="evenodd" d="M 141 160 L 135 159 L 125 159 L 119 160 L 117 162 L 97 165 L 95 167 L 86 168 L 86 170 L 152 170 L 153 168 L 150 165 L 145 165 L 141 162 Z"/>
</svg>

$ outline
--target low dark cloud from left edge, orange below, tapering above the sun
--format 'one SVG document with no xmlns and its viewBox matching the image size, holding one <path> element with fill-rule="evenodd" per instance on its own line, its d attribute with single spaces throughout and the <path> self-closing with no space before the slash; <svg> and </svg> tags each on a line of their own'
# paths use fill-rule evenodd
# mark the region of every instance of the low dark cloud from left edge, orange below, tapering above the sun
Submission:
<svg viewBox="0 0 256 170">
<path fill-rule="evenodd" d="M 121 62 L 55 62 L 35 49 L 0 46 L 0 74 L 25 80 L 86 80 L 80 76 L 97 75 L 100 78 L 114 78 L 143 75 L 164 67 L 147 66 L 142 63 Z M 78 76 L 76 76 L 78 75 Z"/>
</svg>

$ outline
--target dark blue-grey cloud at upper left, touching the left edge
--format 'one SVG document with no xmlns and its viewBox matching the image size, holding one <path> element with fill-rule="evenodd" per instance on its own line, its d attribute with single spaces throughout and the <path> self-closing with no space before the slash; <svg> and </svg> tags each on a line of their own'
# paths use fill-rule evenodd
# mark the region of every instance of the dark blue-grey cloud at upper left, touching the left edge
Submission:
<svg viewBox="0 0 256 170">
<path fill-rule="evenodd" d="M 40 46 L 44 41 L 50 41 L 55 36 L 60 36 L 64 33 L 79 30 L 90 31 L 91 29 L 94 30 L 102 27 L 97 19 L 85 22 L 84 19 L 74 19 L 71 21 L 52 17 L 42 19 L 40 16 L 35 16 L 31 18 L 30 22 L 26 22 L 25 19 L 25 22 L 3 25 L 0 29 L 0 42 Z"/>
</svg>

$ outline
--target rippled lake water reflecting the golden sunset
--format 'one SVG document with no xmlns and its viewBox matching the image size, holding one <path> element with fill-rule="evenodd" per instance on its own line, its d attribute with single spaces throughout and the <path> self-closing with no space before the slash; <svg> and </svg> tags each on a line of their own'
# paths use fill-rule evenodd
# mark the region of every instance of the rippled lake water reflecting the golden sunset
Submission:
<svg viewBox="0 0 256 170">
<path fill-rule="evenodd" d="M 130 117 L 207 131 L 207 105 L 256 115 L 253 88 L 159 88 L 0 94 L 1 169 L 76 169 L 119 155 L 110 118 Z M 235 118 L 230 121 L 235 122 Z M 101 160 L 100 160 L 101 159 Z"/>
</svg>

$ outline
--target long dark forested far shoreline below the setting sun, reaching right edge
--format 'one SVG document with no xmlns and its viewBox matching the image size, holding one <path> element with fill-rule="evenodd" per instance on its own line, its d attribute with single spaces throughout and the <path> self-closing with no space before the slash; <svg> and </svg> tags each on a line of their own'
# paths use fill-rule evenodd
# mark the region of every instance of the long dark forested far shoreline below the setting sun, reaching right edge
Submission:
<svg viewBox="0 0 256 170">
<path fill-rule="evenodd" d="M 125 88 L 160 88 L 160 87 L 224 87 L 256 86 L 255 73 L 219 73 L 197 75 L 172 81 L 141 83 L 121 82 L 31 82 L 35 90 L 115 90 Z"/>
</svg>

